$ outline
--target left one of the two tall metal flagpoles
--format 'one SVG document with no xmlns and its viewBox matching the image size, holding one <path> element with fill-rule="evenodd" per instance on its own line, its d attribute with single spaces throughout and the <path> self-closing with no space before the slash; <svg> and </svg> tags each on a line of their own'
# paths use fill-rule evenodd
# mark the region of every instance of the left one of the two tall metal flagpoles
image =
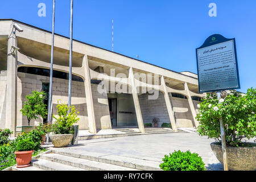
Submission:
<svg viewBox="0 0 256 182">
<path fill-rule="evenodd" d="M 55 0 L 53 0 L 52 7 L 52 47 L 51 47 L 51 69 L 49 81 L 49 95 L 48 95 L 48 116 L 47 123 L 51 122 L 51 105 L 52 105 L 52 72 L 53 72 L 53 48 L 54 48 L 54 25 L 55 25 Z M 47 133 L 46 142 L 49 142 L 49 133 Z"/>
</svg>

